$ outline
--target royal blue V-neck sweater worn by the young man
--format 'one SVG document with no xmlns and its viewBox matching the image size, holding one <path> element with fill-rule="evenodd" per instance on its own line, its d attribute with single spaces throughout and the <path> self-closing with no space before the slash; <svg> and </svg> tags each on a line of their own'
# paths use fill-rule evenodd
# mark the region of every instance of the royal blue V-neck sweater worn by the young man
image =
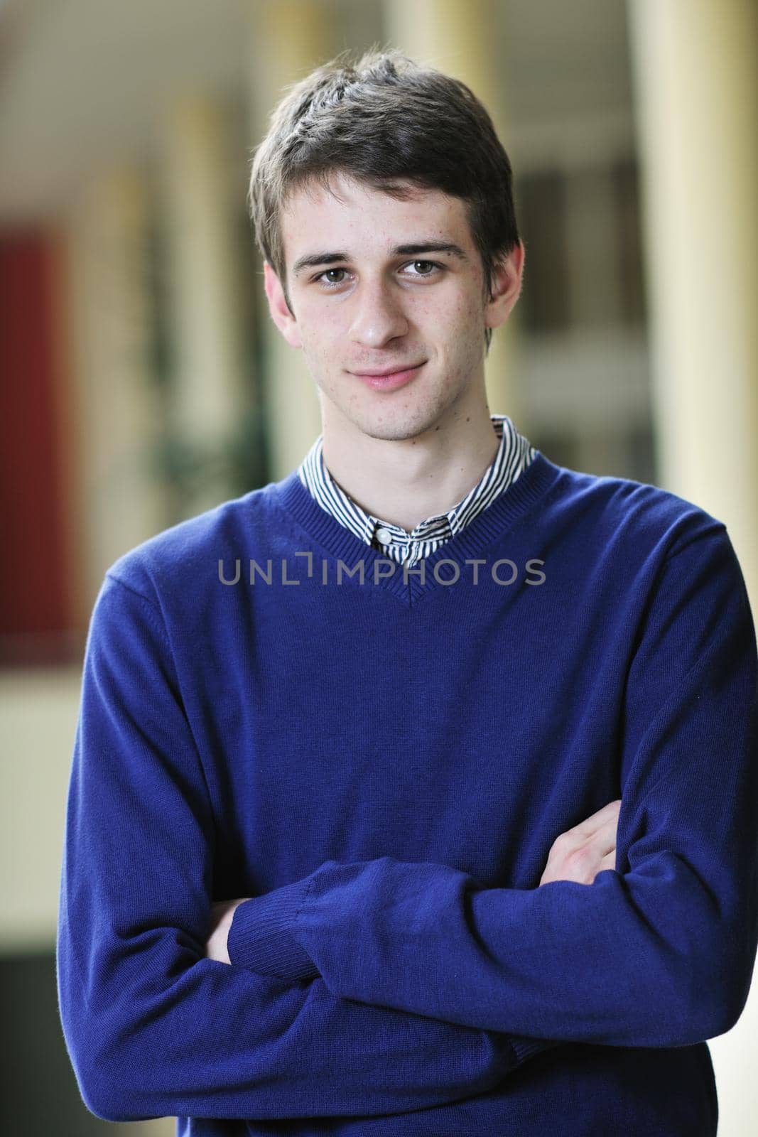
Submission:
<svg viewBox="0 0 758 1137">
<path fill-rule="evenodd" d="M 147 541 L 92 614 L 68 795 L 88 1107 L 195 1137 L 715 1134 L 756 722 L 725 526 L 651 485 L 538 453 L 407 574 L 295 472 Z M 538 887 L 619 797 L 616 869 Z M 230 966 L 205 943 L 234 897 Z"/>
</svg>

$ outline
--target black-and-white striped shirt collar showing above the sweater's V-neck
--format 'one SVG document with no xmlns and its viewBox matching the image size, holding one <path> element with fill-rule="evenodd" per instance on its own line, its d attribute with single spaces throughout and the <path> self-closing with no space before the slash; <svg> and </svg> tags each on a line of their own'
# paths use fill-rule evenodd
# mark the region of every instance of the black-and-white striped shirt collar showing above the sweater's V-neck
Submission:
<svg viewBox="0 0 758 1137">
<path fill-rule="evenodd" d="M 490 415 L 500 447 L 473 490 L 447 513 L 422 521 L 411 532 L 366 513 L 334 481 L 324 463 L 324 435 L 319 434 L 298 468 L 300 481 L 318 505 L 372 548 L 408 567 L 470 524 L 474 517 L 523 474 L 538 453 L 519 434 L 507 415 Z"/>
</svg>

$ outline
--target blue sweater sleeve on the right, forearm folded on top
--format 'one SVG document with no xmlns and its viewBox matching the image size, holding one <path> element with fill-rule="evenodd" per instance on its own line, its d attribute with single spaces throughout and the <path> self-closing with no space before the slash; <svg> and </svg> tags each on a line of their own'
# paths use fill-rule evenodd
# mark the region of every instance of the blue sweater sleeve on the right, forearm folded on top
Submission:
<svg viewBox="0 0 758 1137">
<path fill-rule="evenodd" d="M 686 1046 L 731 1029 L 758 940 L 756 640 L 716 525 L 669 554 L 634 645 L 616 869 L 513 889 L 328 861 L 292 920 L 268 906 L 268 933 L 251 931 L 266 898 L 240 905 L 245 964 L 277 974 L 294 940 L 335 995 L 542 1039 Z"/>
</svg>

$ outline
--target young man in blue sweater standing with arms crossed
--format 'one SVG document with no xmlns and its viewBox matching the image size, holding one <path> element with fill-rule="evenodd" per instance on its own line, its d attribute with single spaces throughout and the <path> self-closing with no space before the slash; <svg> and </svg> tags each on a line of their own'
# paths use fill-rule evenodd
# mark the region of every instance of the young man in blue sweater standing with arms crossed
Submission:
<svg viewBox="0 0 758 1137">
<path fill-rule="evenodd" d="M 58 939 L 88 1106 L 180 1134 L 716 1132 L 758 941 L 725 526 L 489 413 L 524 262 L 463 84 L 335 63 L 251 206 L 323 434 L 108 571 Z"/>
</svg>

